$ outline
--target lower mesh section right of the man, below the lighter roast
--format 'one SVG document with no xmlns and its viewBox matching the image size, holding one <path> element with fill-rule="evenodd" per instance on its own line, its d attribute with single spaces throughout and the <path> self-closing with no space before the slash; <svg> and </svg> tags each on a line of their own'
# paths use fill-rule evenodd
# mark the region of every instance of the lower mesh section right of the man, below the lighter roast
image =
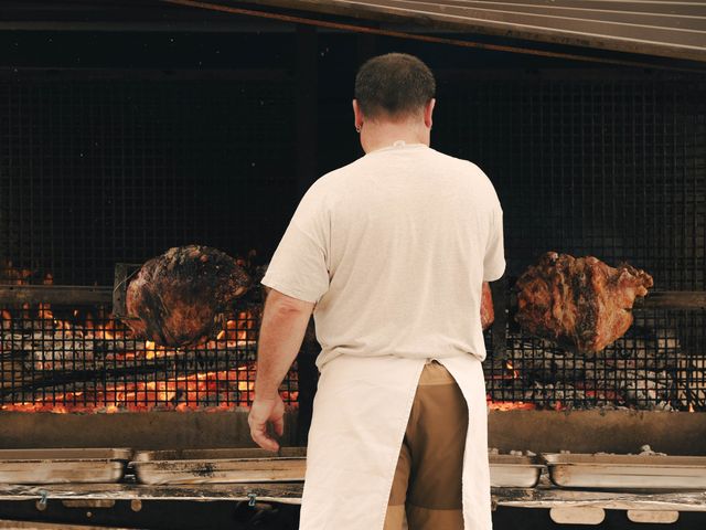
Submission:
<svg viewBox="0 0 706 530">
<path fill-rule="evenodd" d="M 706 356 L 684 347 L 689 333 L 700 333 L 694 320 L 689 311 L 637 311 L 628 333 L 593 357 L 510 325 L 504 354 L 484 363 L 489 396 L 556 410 L 706 410 Z M 492 351 L 490 335 L 486 347 Z"/>
</svg>

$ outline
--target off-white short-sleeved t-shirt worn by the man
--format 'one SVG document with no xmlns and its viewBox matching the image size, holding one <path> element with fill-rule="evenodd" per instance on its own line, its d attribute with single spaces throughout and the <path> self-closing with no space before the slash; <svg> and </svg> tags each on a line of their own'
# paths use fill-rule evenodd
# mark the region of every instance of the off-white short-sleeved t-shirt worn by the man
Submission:
<svg viewBox="0 0 706 530">
<path fill-rule="evenodd" d="M 504 269 L 488 177 L 396 142 L 309 189 L 263 284 L 315 303 L 320 368 L 342 354 L 483 360 L 481 285 Z"/>
</svg>

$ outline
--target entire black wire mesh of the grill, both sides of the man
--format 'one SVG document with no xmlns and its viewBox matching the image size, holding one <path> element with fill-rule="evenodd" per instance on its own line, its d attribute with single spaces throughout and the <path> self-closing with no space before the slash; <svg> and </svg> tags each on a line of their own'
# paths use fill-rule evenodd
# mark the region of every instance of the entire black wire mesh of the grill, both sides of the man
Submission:
<svg viewBox="0 0 706 530">
<path fill-rule="evenodd" d="M 706 289 L 703 76 L 438 74 L 435 142 L 477 161 L 505 212 L 509 279 L 486 336 L 491 405 L 706 410 L 704 310 L 635 309 L 625 337 L 585 358 L 523 335 L 512 303 L 514 278 L 549 250 L 628 261 L 652 274 L 655 290 Z M 0 83 L 2 283 L 109 286 L 116 263 L 194 242 L 232 255 L 253 248 L 266 262 L 296 202 L 290 74 L 109 77 Z M 334 145 L 341 136 L 319 146 L 336 163 L 350 158 Z M 246 405 L 258 310 L 229 315 L 205 348 L 161 351 L 130 339 L 107 304 L 8 303 L 2 404 Z M 282 390 L 295 404 L 296 371 Z"/>
</svg>

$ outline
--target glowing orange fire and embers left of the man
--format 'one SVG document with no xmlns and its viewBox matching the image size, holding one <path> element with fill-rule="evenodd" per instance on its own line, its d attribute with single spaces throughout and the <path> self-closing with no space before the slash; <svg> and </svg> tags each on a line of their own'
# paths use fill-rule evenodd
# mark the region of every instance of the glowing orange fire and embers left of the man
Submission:
<svg viewBox="0 0 706 530">
<path fill-rule="evenodd" d="M 17 273 L 15 276 L 19 278 L 18 282 L 29 277 L 29 275 L 23 276 L 20 273 Z M 45 283 L 51 282 L 53 278 L 47 275 Z M 50 344 L 55 341 L 58 348 L 54 351 L 50 346 L 46 350 L 50 357 L 44 357 L 44 353 L 40 352 L 40 357 L 34 358 L 33 361 L 31 357 L 33 352 L 29 352 L 29 361 L 33 362 L 33 370 L 29 373 L 36 374 L 39 372 L 41 375 L 41 372 L 45 370 L 67 371 L 74 367 L 90 370 L 94 359 L 101 362 L 97 367 L 125 369 L 129 368 L 130 363 L 135 363 L 136 372 L 128 373 L 124 379 L 129 381 L 124 382 L 117 375 L 117 381 L 114 382 L 101 384 L 100 381 L 92 381 L 85 386 L 83 383 L 78 383 L 76 386 L 81 386 L 79 389 L 65 390 L 64 392 L 56 392 L 57 386 L 54 386 L 51 392 L 46 392 L 42 396 L 35 395 L 28 401 L 0 404 L 0 411 L 52 412 L 56 414 L 103 412 L 111 414 L 159 409 L 186 412 L 248 407 L 253 402 L 256 363 L 253 360 L 237 360 L 238 356 L 252 356 L 257 343 L 258 319 L 250 311 L 238 312 L 235 318 L 225 322 L 215 339 L 190 350 L 190 356 L 194 360 L 192 361 L 192 357 L 189 357 L 188 362 L 193 362 L 193 365 L 196 367 L 203 363 L 204 368 L 200 369 L 201 371 L 185 374 L 172 372 L 159 381 L 140 380 L 139 370 L 143 370 L 146 367 L 141 360 L 154 362 L 164 359 L 179 362 L 179 358 L 184 358 L 189 352 L 157 346 L 149 340 L 135 340 L 127 328 L 116 324 L 111 315 L 103 310 L 90 314 L 73 309 L 65 312 L 66 317 L 60 315 L 61 311 L 55 311 L 50 304 L 40 304 L 34 310 L 24 304 L 18 310 L 18 317 L 28 322 L 32 321 L 31 332 L 39 337 L 28 340 L 49 341 Z M 12 330 L 13 325 L 12 311 L 7 308 L 0 309 L 2 330 Z M 66 348 L 67 343 L 69 348 Z M 79 350 L 72 351 L 73 343 Z M 96 346 L 104 343 L 106 346 Z M 116 346 L 118 343 L 121 346 Z M 93 348 L 81 350 L 81 348 L 86 348 L 85 344 L 90 344 Z M 90 358 L 85 357 L 88 350 Z M 197 356 L 200 352 L 211 353 L 212 351 L 216 353 L 232 351 L 232 353 L 225 359 L 215 356 L 215 361 L 213 361 L 215 367 L 208 369 L 207 365 L 212 362 L 211 358 L 205 354 L 201 358 Z M 53 357 L 54 354 L 56 357 Z M 218 365 L 218 363 L 225 364 L 228 359 L 233 359 L 232 362 L 235 362 L 236 365 L 233 368 Z M 154 364 L 154 367 L 156 370 L 168 370 L 168 372 L 175 370 L 170 368 L 174 367 L 172 363 L 163 364 L 164 368 L 160 364 Z M 19 377 L 23 377 L 23 374 L 24 372 Z M 143 375 L 145 379 L 151 377 L 153 375 L 149 371 Z M 289 380 L 296 385 L 296 372 L 290 373 Z M 282 399 L 291 406 L 297 406 L 298 392 L 296 390 L 282 391 Z"/>
</svg>

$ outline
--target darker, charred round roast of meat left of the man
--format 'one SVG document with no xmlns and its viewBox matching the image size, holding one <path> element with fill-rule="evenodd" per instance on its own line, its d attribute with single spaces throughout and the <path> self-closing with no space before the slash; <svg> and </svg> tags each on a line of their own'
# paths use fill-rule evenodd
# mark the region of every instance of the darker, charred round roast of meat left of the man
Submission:
<svg viewBox="0 0 706 530">
<path fill-rule="evenodd" d="M 220 315 L 249 285 L 235 259 L 216 248 L 170 248 L 128 285 L 126 321 L 137 337 L 157 344 L 194 346 L 216 331 Z"/>
</svg>

